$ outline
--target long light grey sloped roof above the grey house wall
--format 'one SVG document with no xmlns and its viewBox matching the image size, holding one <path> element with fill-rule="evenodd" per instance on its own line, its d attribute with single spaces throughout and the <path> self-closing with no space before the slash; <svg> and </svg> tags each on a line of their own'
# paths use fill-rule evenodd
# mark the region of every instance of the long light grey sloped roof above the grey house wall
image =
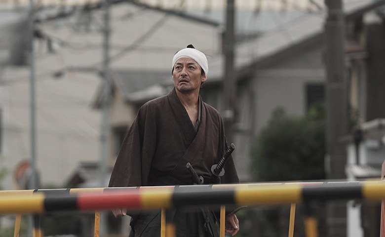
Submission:
<svg viewBox="0 0 385 237">
<path fill-rule="evenodd" d="M 353 19 L 381 5 L 385 5 L 385 0 L 347 2 L 344 5 L 346 19 Z M 313 37 L 322 37 L 326 14 L 326 11 L 305 13 L 263 32 L 262 36 L 255 40 L 236 45 L 235 68 L 239 70 L 253 66 L 267 58 L 271 59 L 271 56 L 279 56 L 280 52 L 293 45 L 301 44 Z M 210 65 L 211 77 L 222 78 L 224 71 L 222 68 L 223 58 L 215 58 Z"/>
</svg>

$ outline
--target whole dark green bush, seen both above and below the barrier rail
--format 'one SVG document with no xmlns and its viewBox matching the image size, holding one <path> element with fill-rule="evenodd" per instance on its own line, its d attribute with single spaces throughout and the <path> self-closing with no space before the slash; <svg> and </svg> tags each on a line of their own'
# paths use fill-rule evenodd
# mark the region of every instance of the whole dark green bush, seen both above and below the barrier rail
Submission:
<svg viewBox="0 0 385 237">
<path fill-rule="evenodd" d="M 277 108 L 256 139 L 252 150 L 251 174 L 254 181 L 324 179 L 325 110 L 310 108 L 305 116 L 289 116 Z M 305 236 L 302 206 L 297 206 L 295 236 Z M 319 231 L 324 230 L 322 205 L 316 206 Z M 289 206 L 264 208 L 257 213 L 259 235 L 287 235 Z M 321 235 L 322 236 L 322 235 Z"/>
</svg>

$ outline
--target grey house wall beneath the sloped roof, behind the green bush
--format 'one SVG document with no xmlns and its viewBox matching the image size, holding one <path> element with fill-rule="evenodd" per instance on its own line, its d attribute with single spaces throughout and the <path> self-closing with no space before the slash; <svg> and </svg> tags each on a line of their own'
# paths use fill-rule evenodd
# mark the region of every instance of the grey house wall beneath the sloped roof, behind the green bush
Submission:
<svg viewBox="0 0 385 237">
<path fill-rule="evenodd" d="M 269 65 L 256 67 L 251 79 L 238 88 L 243 132 L 236 136 L 241 149 L 236 149 L 234 156 L 242 180 L 252 181 L 250 151 L 274 109 L 282 107 L 289 115 L 304 115 L 307 111 L 306 86 L 325 83 L 323 47 L 319 41 L 277 57 Z M 247 129 L 248 133 L 244 131 Z"/>
</svg>

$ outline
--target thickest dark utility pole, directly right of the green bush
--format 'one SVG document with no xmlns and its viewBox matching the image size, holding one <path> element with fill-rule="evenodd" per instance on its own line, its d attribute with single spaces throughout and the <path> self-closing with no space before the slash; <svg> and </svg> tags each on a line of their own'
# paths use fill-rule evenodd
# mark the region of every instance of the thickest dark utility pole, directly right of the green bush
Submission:
<svg viewBox="0 0 385 237">
<path fill-rule="evenodd" d="M 345 179 L 346 148 L 339 137 L 348 132 L 347 86 L 345 78 L 344 13 L 342 0 L 325 0 L 328 15 L 325 23 L 326 44 L 326 151 L 328 179 Z M 328 237 L 346 236 L 346 203 L 327 205 Z"/>
</svg>

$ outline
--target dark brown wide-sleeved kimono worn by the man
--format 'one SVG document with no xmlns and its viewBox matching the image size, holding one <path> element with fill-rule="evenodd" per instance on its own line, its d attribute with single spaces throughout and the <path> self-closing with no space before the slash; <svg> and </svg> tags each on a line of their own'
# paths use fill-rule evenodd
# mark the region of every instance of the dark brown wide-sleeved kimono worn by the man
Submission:
<svg viewBox="0 0 385 237">
<path fill-rule="evenodd" d="M 192 164 L 198 175 L 203 176 L 204 183 L 209 184 L 211 166 L 222 158 L 227 142 L 219 113 L 202 100 L 199 101 L 201 111 L 197 131 L 179 101 L 175 88 L 168 95 L 143 105 L 120 148 L 109 187 L 192 185 L 187 162 Z M 239 182 L 232 158 L 225 165 L 225 175 L 221 181 Z M 131 226 L 135 236 L 152 236 L 144 234 L 145 225 L 149 223 L 144 223 L 146 221 L 142 219 L 151 222 L 148 219 L 160 218 L 149 216 L 134 215 Z M 191 221 L 191 217 L 186 219 Z M 193 219 L 199 222 L 200 217 Z"/>
</svg>

